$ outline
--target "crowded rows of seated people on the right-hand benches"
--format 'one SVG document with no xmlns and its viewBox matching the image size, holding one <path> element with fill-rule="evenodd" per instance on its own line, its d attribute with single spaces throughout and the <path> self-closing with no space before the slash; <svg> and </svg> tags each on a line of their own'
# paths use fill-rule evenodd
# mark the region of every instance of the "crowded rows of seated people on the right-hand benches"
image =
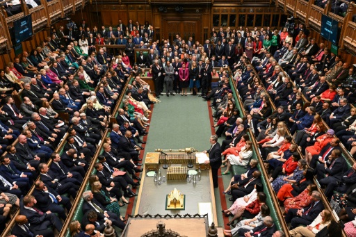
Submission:
<svg viewBox="0 0 356 237">
<path fill-rule="evenodd" d="M 313 65 L 307 63 L 309 59 L 305 57 L 305 64 L 308 64 L 308 68 L 309 65 Z M 318 231 L 332 222 L 330 222 L 331 213 L 326 210 L 323 211 L 324 206 L 320 202 L 321 194 L 316 190 L 313 181 L 314 176 L 316 176 L 322 188 L 325 188 L 324 193 L 331 202 L 339 197 L 338 203 L 334 206 L 339 206 L 341 202 L 342 204 L 347 203 L 345 197 L 348 197 L 348 195 L 343 197 L 343 193 L 350 194 L 353 192 L 353 188 L 349 187 L 355 183 L 356 165 L 348 168 L 346 161 L 341 156 L 341 148 L 339 147 L 339 143 L 344 139 L 342 139 L 342 136 L 334 137 L 337 132 L 343 129 L 350 131 L 348 126 L 355 121 L 352 120 L 355 113 L 354 109 L 350 111 L 349 108 L 348 112 L 343 115 L 345 117 L 342 119 L 342 116 L 339 117 L 341 108 L 349 107 L 348 100 L 344 96 L 348 89 L 338 88 L 337 92 L 332 93 L 335 91 L 335 85 L 339 86 L 343 80 L 335 82 L 331 79 L 330 83 L 334 85 L 327 85 L 325 89 L 322 89 L 323 91 L 320 91 L 321 86 L 318 87 L 318 84 L 325 83 L 323 79 L 327 77 L 327 75 L 323 75 L 323 72 L 325 74 L 329 72 L 325 68 L 321 74 L 314 72 L 321 79 L 317 80 L 316 85 L 315 82 L 312 84 L 318 88 L 316 90 L 312 90 L 313 88 L 304 90 L 305 85 L 301 85 L 303 81 L 296 83 L 296 80 L 291 81 L 289 77 L 280 74 L 281 70 L 278 68 L 277 61 L 271 54 L 264 59 L 270 67 L 273 67 L 272 73 L 268 76 L 265 73 L 266 65 L 262 65 L 264 60 L 257 61 L 256 58 L 255 60 L 250 64 L 249 60 L 241 57 L 240 61 L 236 63 L 238 68 L 232 75 L 242 99 L 246 117 L 243 119 L 238 117 L 238 111 L 235 108 L 238 102 L 234 101 L 228 83 L 223 86 L 222 76 L 218 87 L 213 88 L 206 98 L 213 99 L 211 106 L 216 110 L 213 117 L 216 117 L 216 121 L 218 121 L 214 125 L 218 128 L 216 134 L 226 136 L 221 148 L 224 158 L 223 166 L 227 166 L 227 170 L 222 174 L 229 174 L 231 165 L 241 165 L 248 168 L 245 174 L 238 174 L 233 177 L 229 187 L 224 191 L 224 193 L 232 195 L 230 200 L 234 202 L 230 209 L 223 211 L 226 215 L 234 216 L 228 223 L 228 225 L 233 225 L 234 229 L 232 231 L 225 230 L 225 235 L 241 235 L 238 229 L 245 228 L 246 225 L 250 224 L 250 220 L 247 220 L 247 222 L 242 220 L 236 226 L 234 220 L 241 220 L 242 217 L 251 218 L 250 215 L 246 215 L 246 211 L 251 213 L 254 205 L 256 205 L 248 203 L 250 194 L 255 195 L 254 192 L 257 192 L 254 189 L 257 186 L 254 187 L 254 185 L 261 183 L 259 178 L 261 173 L 257 170 L 257 162 L 251 160 L 252 142 L 245 133 L 245 129 L 250 128 L 251 135 L 257 140 L 261 156 L 264 158 L 265 165 L 270 173 L 272 188 L 280 203 L 284 205 L 285 220 L 287 223 L 291 223 L 290 234 L 292 236 L 315 236 Z M 339 74 L 346 70 L 348 72 L 348 64 L 340 63 L 340 65 L 340 68 L 343 69 L 339 70 Z M 252 66 L 255 67 L 254 70 L 260 72 L 259 75 L 254 75 Z M 294 76 L 294 78 L 302 79 L 303 76 L 314 75 L 308 70 L 306 67 L 300 76 Z M 289 76 L 292 78 L 293 72 Z M 291 82 L 294 82 L 294 84 Z M 265 90 L 260 83 L 263 83 L 265 88 L 275 83 L 278 86 L 275 89 L 268 88 Z M 316 94 L 317 92 L 318 94 Z M 312 95 L 309 95 L 311 93 Z M 337 93 L 339 94 L 337 99 L 330 96 L 330 94 L 335 96 Z M 309 95 L 312 104 L 304 105 L 303 94 Z M 277 106 L 275 113 L 271 109 L 267 95 L 274 98 Z M 322 120 L 330 125 L 331 129 L 326 131 Z M 346 121 L 344 122 L 344 120 Z M 345 124 L 348 122 L 351 124 Z M 291 135 L 295 137 L 296 144 L 299 147 L 291 144 L 292 138 L 287 135 L 286 127 L 290 129 Z M 300 157 L 297 152 L 298 148 L 303 154 L 305 152 L 305 158 Z M 341 195 L 333 197 L 334 191 L 341 193 Z M 350 199 L 352 198 L 350 197 Z M 338 210 L 339 216 L 344 218 L 346 222 L 355 219 L 355 214 L 352 211 L 353 204 L 350 202 L 349 204 L 348 209 Z M 262 207 L 262 205 L 257 206 Z M 262 215 L 263 211 L 257 211 L 255 214 Z M 257 215 L 257 219 L 253 219 L 253 221 L 258 220 L 258 217 Z M 298 227 L 301 224 L 307 227 Z M 353 227 L 353 224 L 349 222 L 348 226 L 351 227 L 351 225 Z M 332 223 L 330 227 L 340 231 L 340 228 L 335 227 L 335 223 Z M 330 227 L 327 228 L 328 231 L 332 231 Z M 355 233 L 355 227 L 349 229 Z"/>
</svg>

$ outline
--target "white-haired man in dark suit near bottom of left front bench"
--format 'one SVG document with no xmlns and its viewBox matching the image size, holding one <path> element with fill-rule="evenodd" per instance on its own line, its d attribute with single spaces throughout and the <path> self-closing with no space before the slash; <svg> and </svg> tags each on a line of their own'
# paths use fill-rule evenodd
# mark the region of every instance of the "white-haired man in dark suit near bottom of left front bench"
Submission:
<svg viewBox="0 0 356 237">
<path fill-rule="evenodd" d="M 94 198 L 92 195 L 92 191 L 84 192 L 81 197 L 84 199 L 82 211 L 83 213 L 87 213 L 88 211 L 95 211 L 97 213 L 97 220 L 105 221 L 108 224 L 113 224 L 115 227 L 119 227 L 120 229 L 124 229 L 125 224 L 120 220 L 120 217 L 111 211 L 106 211 L 104 206 Z"/>
</svg>

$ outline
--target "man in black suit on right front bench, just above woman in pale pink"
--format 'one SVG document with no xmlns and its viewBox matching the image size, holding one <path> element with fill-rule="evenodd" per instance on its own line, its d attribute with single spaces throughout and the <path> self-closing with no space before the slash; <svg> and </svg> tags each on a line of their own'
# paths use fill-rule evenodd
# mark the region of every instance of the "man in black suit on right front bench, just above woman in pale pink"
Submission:
<svg viewBox="0 0 356 237">
<path fill-rule="evenodd" d="M 232 197 L 229 200 L 235 202 L 239 197 L 250 194 L 254 189 L 254 184 L 261 182 L 261 172 L 259 170 L 254 171 L 251 176 L 241 182 L 232 182 Z"/>
</svg>

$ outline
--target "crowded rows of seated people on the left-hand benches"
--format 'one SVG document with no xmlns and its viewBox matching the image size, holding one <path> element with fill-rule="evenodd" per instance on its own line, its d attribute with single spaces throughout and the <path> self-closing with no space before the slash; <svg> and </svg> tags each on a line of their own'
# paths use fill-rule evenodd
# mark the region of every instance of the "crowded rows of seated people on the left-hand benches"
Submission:
<svg viewBox="0 0 356 237">
<path fill-rule="evenodd" d="M 113 57 L 105 49 L 99 50 L 99 56 L 95 52 L 79 56 L 74 54 L 72 43 L 65 50 L 58 47 L 52 51 L 46 46 L 50 41 L 31 54 L 24 51 L 0 72 L 0 231 L 16 207 L 21 215 L 13 228 L 15 236 L 23 236 L 22 231 L 54 236 L 48 227 L 62 229 L 72 208 L 70 199 L 76 198 L 122 93 L 124 108 L 118 110 L 118 124 L 113 124 L 110 137 L 104 141 L 103 156 L 95 164 L 97 179 L 92 181 L 92 193 L 96 199 L 90 202 L 90 195 L 83 194 L 89 203 L 83 212 L 99 211 L 96 214 L 102 218 L 101 210 L 90 204 L 99 200 L 101 209 L 112 211 L 107 214 L 110 218 L 104 216 L 106 224 L 123 229 L 120 206 L 129 203 L 127 197 L 137 195 L 131 188 L 140 185 L 137 174 L 142 172 L 142 163 L 138 154 L 143 149 L 140 144 L 145 143 L 140 136 L 147 135 L 149 126 L 149 86 L 138 76 L 134 86 L 124 92 L 129 74 L 121 65 L 112 67 Z M 98 63 L 100 56 L 106 57 L 106 64 Z M 22 99 L 19 106 L 13 92 Z M 69 121 L 60 118 L 63 112 L 69 114 Z M 58 154 L 54 151 L 63 138 L 63 153 Z M 119 172 L 119 168 L 125 171 Z M 40 180 L 36 181 L 37 177 Z"/>
</svg>

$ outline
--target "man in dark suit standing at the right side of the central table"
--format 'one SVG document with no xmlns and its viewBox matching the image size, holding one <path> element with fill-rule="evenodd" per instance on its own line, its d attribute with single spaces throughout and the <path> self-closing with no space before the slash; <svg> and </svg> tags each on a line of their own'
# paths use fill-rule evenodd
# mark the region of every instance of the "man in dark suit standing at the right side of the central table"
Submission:
<svg viewBox="0 0 356 237">
<path fill-rule="evenodd" d="M 210 144 L 210 149 L 204 151 L 204 153 L 209 154 L 209 161 L 205 161 L 204 164 L 210 163 L 211 172 L 213 173 L 213 186 L 214 188 L 218 188 L 218 170 L 221 166 L 221 148 L 218 142 L 218 136 L 211 136 Z"/>
</svg>

